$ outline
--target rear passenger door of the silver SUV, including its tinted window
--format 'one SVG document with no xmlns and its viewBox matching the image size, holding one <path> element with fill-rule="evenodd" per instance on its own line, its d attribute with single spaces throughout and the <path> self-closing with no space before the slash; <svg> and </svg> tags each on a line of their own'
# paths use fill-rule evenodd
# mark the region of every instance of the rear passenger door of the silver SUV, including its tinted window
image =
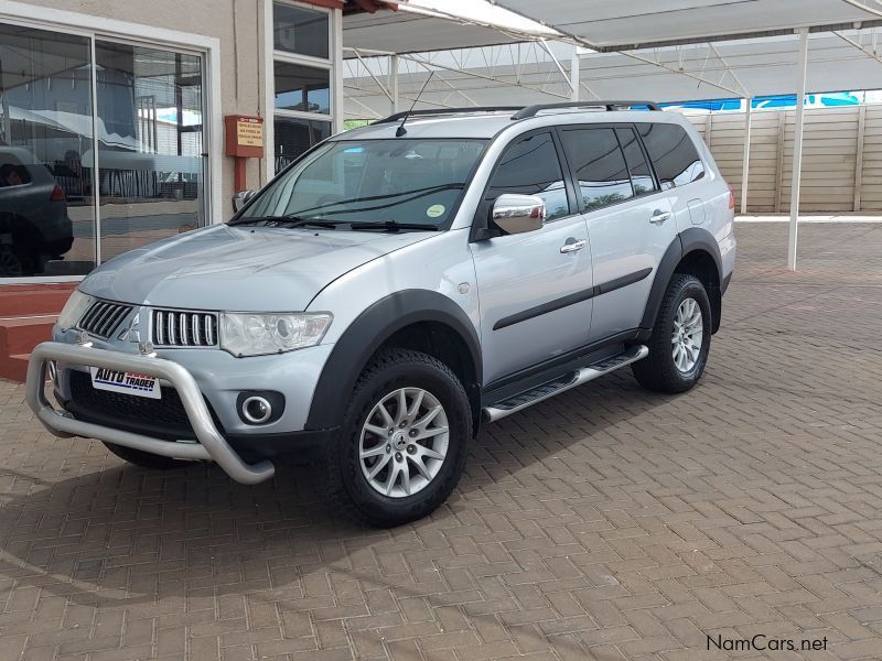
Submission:
<svg viewBox="0 0 882 661">
<path fill-rule="evenodd" d="M 632 124 L 567 127 L 561 140 L 591 242 L 595 342 L 637 327 L 677 225 Z"/>
</svg>

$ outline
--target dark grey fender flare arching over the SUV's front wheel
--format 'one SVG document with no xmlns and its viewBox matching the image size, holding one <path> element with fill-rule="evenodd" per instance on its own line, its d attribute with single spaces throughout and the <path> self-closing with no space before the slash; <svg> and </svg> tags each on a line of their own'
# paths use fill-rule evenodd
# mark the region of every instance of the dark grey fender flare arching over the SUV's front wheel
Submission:
<svg viewBox="0 0 882 661">
<path fill-rule="evenodd" d="M 481 340 L 465 311 L 438 292 L 404 290 L 373 303 L 336 342 L 315 386 L 305 429 L 338 426 L 355 381 L 374 351 L 396 332 L 420 322 L 441 323 L 459 334 L 469 347 L 481 383 Z"/>
</svg>

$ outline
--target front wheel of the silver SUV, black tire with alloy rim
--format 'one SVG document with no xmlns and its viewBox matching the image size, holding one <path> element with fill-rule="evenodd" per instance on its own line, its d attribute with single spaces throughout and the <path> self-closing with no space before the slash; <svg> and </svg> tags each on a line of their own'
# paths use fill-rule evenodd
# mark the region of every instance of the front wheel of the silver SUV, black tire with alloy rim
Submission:
<svg viewBox="0 0 882 661">
<path fill-rule="evenodd" d="M 379 354 L 362 372 L 325 460 L 330 495 L 379 527 L 437 509 L 462 475 L 472 410 L 440 360 L 407 349 Z"/>
</svg>

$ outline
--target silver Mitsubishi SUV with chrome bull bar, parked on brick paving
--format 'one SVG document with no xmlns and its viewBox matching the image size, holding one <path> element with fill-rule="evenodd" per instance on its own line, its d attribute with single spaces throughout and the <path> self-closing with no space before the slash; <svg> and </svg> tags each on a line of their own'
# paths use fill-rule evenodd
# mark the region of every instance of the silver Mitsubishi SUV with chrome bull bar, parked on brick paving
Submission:
<svg viewBox="0 0 882 661">
<path fill-rule="evenodd" d="M 255 484 L 319 451 L 332 495 L 402 523 L 450 495 L 482 422 L 627 365 L 691 388 L 733 208 L 691 124 L 654 104 L 394 115 L 227 224 L 94 271 L 34 350 L 28 401 L 139 466 L 211 459 Z"/>
</svg>

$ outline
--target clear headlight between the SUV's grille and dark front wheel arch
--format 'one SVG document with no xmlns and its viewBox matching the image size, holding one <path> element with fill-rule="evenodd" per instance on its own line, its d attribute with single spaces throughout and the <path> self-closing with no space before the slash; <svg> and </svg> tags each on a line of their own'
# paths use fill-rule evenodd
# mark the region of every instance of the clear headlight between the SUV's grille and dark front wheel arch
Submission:
<svg viewBox="0 0 882 661">
<path fill-rule="evenodd" d="M 293 351 L 319 344 L 333 317 L 326 312 L 220 313 L 220 348 L 234 356 Z"/>
</svg>

